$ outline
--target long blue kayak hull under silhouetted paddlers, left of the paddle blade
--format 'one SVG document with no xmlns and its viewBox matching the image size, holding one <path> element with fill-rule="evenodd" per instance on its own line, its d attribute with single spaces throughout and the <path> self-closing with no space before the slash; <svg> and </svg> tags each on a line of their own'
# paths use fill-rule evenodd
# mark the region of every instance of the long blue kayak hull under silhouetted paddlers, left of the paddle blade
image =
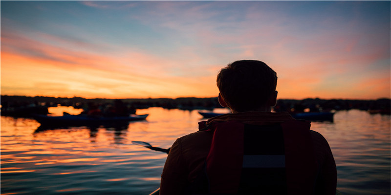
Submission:
<svg viewBox="0 0 391 195">
<path fill-rule="evenodd" d="M 88 124 L 108 124 L 129 121 L 145 120 L 148 115 L 130 115 L 127 117 L 88 117 L 79 115 L 47 116 L 34 115 L 33 118 L 41 125 L 88 125 Z"/>
</svg>

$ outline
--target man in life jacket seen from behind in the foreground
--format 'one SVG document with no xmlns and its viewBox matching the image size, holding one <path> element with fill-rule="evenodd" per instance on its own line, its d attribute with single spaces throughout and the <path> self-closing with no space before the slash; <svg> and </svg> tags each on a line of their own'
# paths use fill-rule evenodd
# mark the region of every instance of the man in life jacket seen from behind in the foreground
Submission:
<svg viewBox="0 0 391 195">
<path fill-rule="evenodd" d="M 239 60 L 217 75 L 218 100 L 232 111 L 176 139 L 160 195 L 335 195 L 336 165 L 326 139 L 276 105 L 277 74 Z"/>
</svg>

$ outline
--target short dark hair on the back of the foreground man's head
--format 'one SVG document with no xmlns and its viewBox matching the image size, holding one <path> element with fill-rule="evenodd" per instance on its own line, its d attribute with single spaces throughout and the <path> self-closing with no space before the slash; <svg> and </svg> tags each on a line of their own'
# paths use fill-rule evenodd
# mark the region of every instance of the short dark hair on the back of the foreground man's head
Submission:
<svg viewBox="0 0 391 195">
<path fill-rule="evenodd" d="M 277 73 L 258 60 L 239 60 L 217 74 L 217 87 L 228 106 L 245 112 L 265 105 L 277 87 Z"/>
</svg>

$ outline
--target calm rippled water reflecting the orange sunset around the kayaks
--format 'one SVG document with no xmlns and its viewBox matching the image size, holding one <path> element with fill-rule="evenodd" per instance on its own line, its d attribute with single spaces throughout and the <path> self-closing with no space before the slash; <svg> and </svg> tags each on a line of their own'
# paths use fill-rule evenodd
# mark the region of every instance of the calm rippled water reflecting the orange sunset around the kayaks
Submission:
<svg viewBox="0 0 391 195">
<path fill-rule="evenodd" d="M 50 108 L 78 114 L 71 107 Z M 223 111 L 222 111 L 223 112 Z M 168 148 L 196 131 L 197 111 L 149 108 L 146 121 L 122 128 L 72 127 L 35 132 L 34 119 L 1 117 L 1 195 L 148 195 L 159 187 L 166 154 L 132 140 Z M 328 140 L 344 195 L 390 194 L 390 116 L 339 111 L 334 122 L 312 122 Z"/>
</svg>

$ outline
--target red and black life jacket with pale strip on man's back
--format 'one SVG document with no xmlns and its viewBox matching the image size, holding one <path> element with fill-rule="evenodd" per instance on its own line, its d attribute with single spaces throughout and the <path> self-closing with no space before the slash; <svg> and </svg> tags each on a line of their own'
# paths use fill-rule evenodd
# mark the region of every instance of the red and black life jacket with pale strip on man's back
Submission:
<svg viewBox="0 0 391 195">
<path fill-rule="evenodd" d="M 298 120 L 200 122 L 201 131 L 214 133 L 190 194 L 312 195 L 319 168 L 309 128 L 310 122 Z"/>
</svg>

